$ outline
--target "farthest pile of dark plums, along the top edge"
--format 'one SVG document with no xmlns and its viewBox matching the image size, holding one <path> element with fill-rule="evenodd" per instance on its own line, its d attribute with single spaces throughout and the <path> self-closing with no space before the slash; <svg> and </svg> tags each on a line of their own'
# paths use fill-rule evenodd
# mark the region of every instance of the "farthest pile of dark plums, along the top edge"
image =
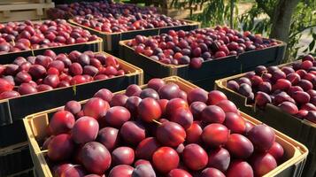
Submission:
<svg viewBox="0 0 316 177">
<path fill-rule="evenodd" d="M 74 16 L 104 15 L 112 14 L 114 16 L 128 15 L 135 13 L 157 12 L 154 7 L 139 7 L 136 4 L 120 4 L 109 1 L 97 2 L 76 2 L 73 4 L 58 4 L 51 8 L 47 14 L 50 19 L 72 19 Z"/>
</svg>

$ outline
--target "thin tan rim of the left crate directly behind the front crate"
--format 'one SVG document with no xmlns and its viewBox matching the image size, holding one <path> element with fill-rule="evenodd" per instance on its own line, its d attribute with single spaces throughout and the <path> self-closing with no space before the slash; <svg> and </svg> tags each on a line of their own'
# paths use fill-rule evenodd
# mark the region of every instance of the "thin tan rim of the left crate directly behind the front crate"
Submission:
<svg viewBox="0 0 316 177">
<path fill-rule="evenodd" d="M 143 84 L 143 69 L 141 69 L 141 68 L 139 68 L 139 67 L 137 67 L 135 65 L 132 65 L 130 63 L 127 63 L 123 59 L 117 58 L 117 57 L 113 56 L 112 54 L 107 53 L 105 51 L 98 51 L 98 52 L 94 52 L 94 53 L 95 54 L 99 54 L 99 53 L 100 54 L 104 54 L 105 56 L 112 56 L 113 58 L 116 58 L 119 61 L 119 64 L 123 64 L 123 65 L 128 66 L 130 68 L 133 68 L 135 70 L 134 73 L 127 73 L 127 74 L 124 74 L 124 75 L 118 75 L 118 76 L 114 76 L 112 78 L 108 78 L 108 79 L 105 79 L 105 80 L 97 80 L 97 81 L 106 81 L 106 80 L 112 80 L 112 79 L 121 78 L 121 77 L 130 77 L 130 76 L 134 76 L 134 75 L 140 75 L 139 83 Z M 42 91 L 42 92 L 37 92 L 37 93 L 34 93 L 34 94 L 27 94 L 27 95 L 24 95 L 24 96 L 6 98 L 6 99 L 0 100 L 0 104 L 5 103 L 5 102 L 10 102 L 10 100 L 12 100 L 12 99 L 19 99 L 20 97 L 25 97 L 25 96 L 34 96 L 34 95 L 37 95 L 37 94 L 43 94 L 43 93 L 46 93 L 46 92 L 56 91 L 56 90 L 59 90 L 59 89 L 69 89 L 69 88 L 73 88 L 74 89 L 75 87 L 78 87 L 78 86 L 81 86 L 81 85 L 85 85 L 85 84 L 89 84 L 89 83 L 94 83 L 94 82 L 97 82 L 97 81 L 89 81 L 89 82 L 86 82 L 86 83 L 75 84 L 73 86 L 68 86 L 68 87 L 64 87 L 64 88 L 56 88 L 56 89 L 52 89 L 52 90 L 45 90 L 45 91 Z"/>
</svg>

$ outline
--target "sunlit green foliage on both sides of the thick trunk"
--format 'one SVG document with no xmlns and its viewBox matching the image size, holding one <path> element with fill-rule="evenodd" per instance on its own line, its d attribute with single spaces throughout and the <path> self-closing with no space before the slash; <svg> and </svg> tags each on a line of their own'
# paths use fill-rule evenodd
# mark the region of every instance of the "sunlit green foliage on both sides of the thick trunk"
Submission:
<svg viewBox="0 0 316 177">
<path fill-rule="evenodd" d="M 201 3 L 198 0 L 182 0 L 181 2 Z M 233 16 L 230 14 L 232 6 L 230 0 L 208 0 L 203 2 L 205 5 L 204 12 L 190 17 L 190 19 L 201 21 L 202 27 L 228 26 L 230 20 L 232 20 L 233 27 L 236 29 L 268 36 L 271 33 L 271 19 L 274 18 L 274 8 L 277 6 L 278 0 L 255 0 L 250 10 L 243 14 L 239 14 L 237 8 L 238 3 L 243 1 L 233 0 Z M 290 25 L 287 58 L 297 58 L 297 51 L 301 48 L 304 48 L 304 53 L 316 53 L 315 10 L 315 0 L 300 0 L 297 4 Z M 302 37 L 306 38 L 306 36 L 311 39 L 310 42 L 303 47 L 299 46 Z"/>
</svg>

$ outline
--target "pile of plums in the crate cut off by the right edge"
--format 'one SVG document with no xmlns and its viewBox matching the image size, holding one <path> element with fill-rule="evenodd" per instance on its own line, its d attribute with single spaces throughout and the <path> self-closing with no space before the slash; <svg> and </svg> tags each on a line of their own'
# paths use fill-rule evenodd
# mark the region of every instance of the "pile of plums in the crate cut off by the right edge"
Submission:
<svg viewBox="0 0 316 177">
<path fill-rule="evenodd" d="M 258 107 L 274 104 L 282 111 L 316 123 L 316 62 L 312 55 L 282 67 L 259 65 L 227 88 L 254 100 Z"/>
</svg>

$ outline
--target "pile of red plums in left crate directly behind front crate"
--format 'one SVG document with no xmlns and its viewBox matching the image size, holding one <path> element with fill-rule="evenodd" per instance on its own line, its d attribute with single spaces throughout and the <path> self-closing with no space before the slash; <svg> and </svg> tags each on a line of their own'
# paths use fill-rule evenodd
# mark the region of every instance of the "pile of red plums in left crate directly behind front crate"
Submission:
<svg viewBox="0 0 316 177">
<path fill-rule="evenodd" d="M 52 50 L 45 50 L 43 55 L 19 57 L 12 64 L 0 65 L 0 99 L 124 74 L 117 59 L 112 56 L 77 50 L 56 55 Z"/>
</svg>

